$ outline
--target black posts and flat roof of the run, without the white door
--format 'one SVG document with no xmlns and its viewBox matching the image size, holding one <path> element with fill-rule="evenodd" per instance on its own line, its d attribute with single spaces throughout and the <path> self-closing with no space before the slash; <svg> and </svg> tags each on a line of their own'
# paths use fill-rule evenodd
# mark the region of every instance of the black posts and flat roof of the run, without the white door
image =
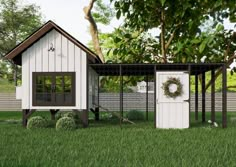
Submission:
<svg viewBox="0 0 236 167">
<path fill-rule="evenodd" d="M 227 127 L 227 73 L 225 63 L 187 64 L 89 64 L 99 76 L 120 76 L 120 115 L 123 116 L 123 76 L 154 76 L 154 117 L 156 117 L 156 71 L 187 71 L 195 76 L 195 120 L 198 120 L 198 77 L 202 76 L 202 122 L 205 117 L 205 73 L 211 71 L 211 119 L 215 121 L 215 70 L 222 69 L 222 127 Z M 214 75 L 213 75 L 214 74 Z M 148 82 L 148 77 L 147 77 Z M 148 83 L 147 89 L 148 91 Z M 148 92 L 146 96 L 146 118 L 148 118 Z M 190 94 L 189 94 L 190 95 Z M 190 100 L 189 100 L 190 102 Z M 154 119 L 156 126 L 156 119 Z"/>
</svg>

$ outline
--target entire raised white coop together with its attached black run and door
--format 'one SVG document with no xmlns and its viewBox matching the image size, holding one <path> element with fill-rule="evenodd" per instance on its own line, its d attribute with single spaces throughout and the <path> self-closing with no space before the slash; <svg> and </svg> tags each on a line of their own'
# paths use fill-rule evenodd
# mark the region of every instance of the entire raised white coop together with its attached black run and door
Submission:
<svg viewBox="0 0 236 167">
<path fill-rule="evenodd" d="M 198 78 L 201 76 L 202 121 L 206 121 L 206 72 L 211 71 L 211 120 L 215 121 L 215 76 L 222 71 L 222 126 L 227 127 L 226 64 L 105 64 L 73 36 L 48 21 L 7 55 L 22 66 L 22 85 L 16 98 L 22 100 L 23 126 L 36 110 L 49 110 L 52 119 L 59 110 L 81 112 L 84 127 L 89 111 L 99 119 L 99 77 L 120 79 L 119 118 L 124 114 L 123 76 L 144 76 L 154 81 L 154 97 L 146 90 L 146 116 L 154 109 L 156 128 L 188 128 L 190 112 L 190 76 L 195 76 L 195 119 L 198 119 Z M 147 87 L 148 88 L 148 85 Z M 149 99 L 153 98 L 153 104 Z M 127 97 L 126 97 L 127 99 Z M 109 102 L 109 99 L 107 100 Z M 121 122 L 121 121 L 120 121 Z"/>
</svg>

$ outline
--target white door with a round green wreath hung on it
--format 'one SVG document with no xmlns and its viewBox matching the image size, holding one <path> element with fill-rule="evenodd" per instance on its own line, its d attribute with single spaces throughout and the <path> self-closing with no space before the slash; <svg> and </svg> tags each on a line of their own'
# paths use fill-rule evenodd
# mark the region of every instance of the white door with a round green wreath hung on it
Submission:
<svg viewBox="0 0 236 167">
<path fill-rule="evenodd" d="M 188 73 L 156 73 L 156 127 L 189 127 Z"/>
</svg>

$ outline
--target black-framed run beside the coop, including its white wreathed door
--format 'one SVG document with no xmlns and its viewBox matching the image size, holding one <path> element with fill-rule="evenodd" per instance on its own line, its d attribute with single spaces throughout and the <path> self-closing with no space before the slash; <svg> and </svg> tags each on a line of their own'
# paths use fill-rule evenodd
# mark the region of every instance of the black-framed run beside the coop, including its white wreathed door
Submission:
<svg viewBox="0 0 236 167">
<path fill-rule="evenodd" d="M 190 76 L 195 77 L 195 120 L 199 117 L 199 93 L 201 95 L 201 113 L 202 122 L 206 122 L 206 72 L 211 72 L 211 120 L 215 122 L 215 79 L 216 70 L 222 71 L 222 127 L 227 127 L 227 77 L 226 65 L 224 63 L 187 63 L 187 64 L 89 64 L 89 67 L 97 74 L 98 81 L 100 76 L 119 76 L 119 111 L 120 115 L 124 113 L 124 92 L 123 76 L 145 76 L 148 84 L 149 78 L 154 78 L 154 106 L 150 106 L 148 85 L 146 86 L 146 118 L 148 118 L 149 108 L 154 109 L 154 126 L 157 128 L 188 128 L 190 122 Z M 90 76 L 90 74 L 88 74 Z M 199 76 L 201 78 L 201 92 L 199 92 Z M 173 81 L 174 79 L 174 81 Z M 177 87 L 173 87 L 175 79 L 178 80 Z M 173 82 L 173 83 L 172 83 Z M 90 87 L 99 84 L 88 82 Z M 165 84 L 172 86 L 173 92 L 166 94 Z M 175 84 L 176 85 L 176 84 Z M 181 86 L 181 91 L 178 90 Z M 99 88 L 99 86 L 96 86 Z M 171 88 L 170 88 L 171 89 Z M 176 90 L 175 90 L 176 89 Z M 92 90 L 92 89 L 90 89 Z M 180 92 L 178 92 L 180 91 Z M 90 92 L 90 107 L 99 106 L 99 90 Z M 171 97 L 173 96 L 173 97 Z M 175 97 L 176 96 L 176 97 Z M 95 101 L 93 99 L 96 99 Z M 127 98 L 126 98 L 127 99 Z M 109 103 L 109 99 L 108 103 Z M 95 104 L 95 105 L 93 105 Z"/>
</svg>

